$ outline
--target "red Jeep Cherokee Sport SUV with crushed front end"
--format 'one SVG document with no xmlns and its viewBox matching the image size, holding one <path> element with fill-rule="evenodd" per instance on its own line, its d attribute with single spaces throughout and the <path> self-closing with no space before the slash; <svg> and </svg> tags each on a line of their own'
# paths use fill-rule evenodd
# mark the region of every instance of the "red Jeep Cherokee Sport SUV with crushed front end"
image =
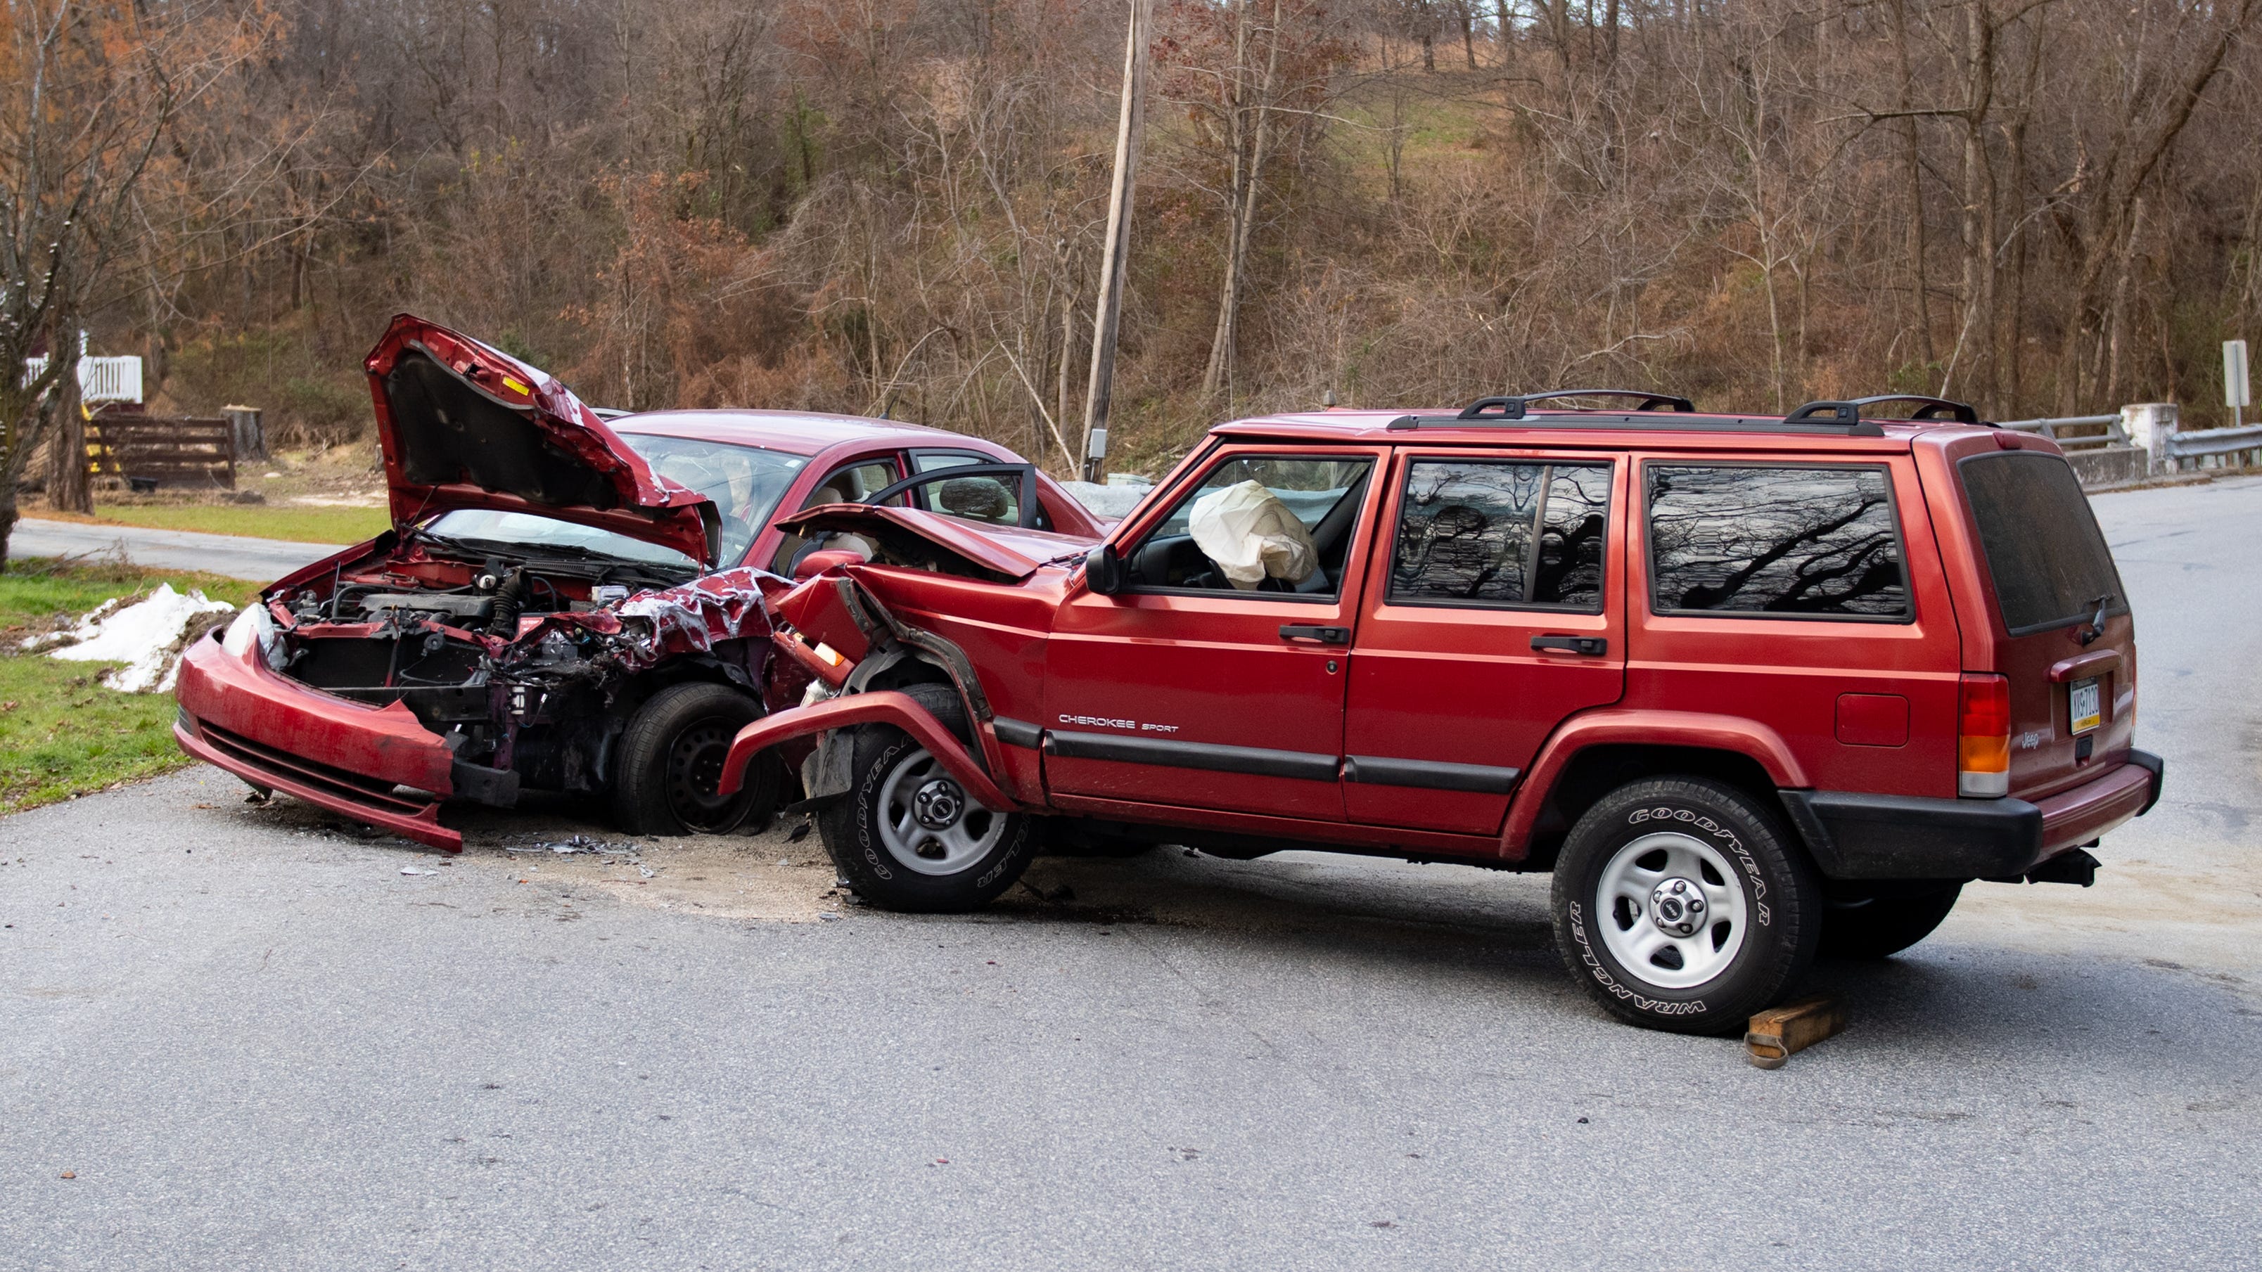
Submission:
<svg viewBox="0 0 2262 1272">
<path fill-rule="evenodd" d="M 1721 1032 L 1970 880 L 2090 883 L 2160 794 L 2072 469 L 1939 398 L 1246 419 L 1050 557 L 916 507 L 787 525 L 875 555 L 769 584 L 814 681 L 724 790 L 821 733 L 805 806 L 887 908 L 1061 840 L 1547 869 L 1604 1007 Z"/>
</svg>

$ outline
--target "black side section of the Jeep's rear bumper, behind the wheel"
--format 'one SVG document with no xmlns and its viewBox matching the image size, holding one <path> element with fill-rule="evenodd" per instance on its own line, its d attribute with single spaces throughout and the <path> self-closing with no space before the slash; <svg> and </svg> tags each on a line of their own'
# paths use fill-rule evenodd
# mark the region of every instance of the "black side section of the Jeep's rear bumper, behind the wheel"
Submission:
<svg viewBox="0 0 2262 1272">
<path fill-rule="evenodd" d="M 2043 810 L 2024 799 L 1778 794 L 1828 878 L 2000 878 L 2043 856 Z"/>
</svg>

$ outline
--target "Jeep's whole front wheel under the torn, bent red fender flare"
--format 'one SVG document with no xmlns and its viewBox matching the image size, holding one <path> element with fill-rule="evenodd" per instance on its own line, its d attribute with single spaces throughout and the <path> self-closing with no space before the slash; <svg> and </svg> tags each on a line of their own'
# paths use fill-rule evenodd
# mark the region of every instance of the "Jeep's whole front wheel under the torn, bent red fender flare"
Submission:
<svg viewBox="0 0 2262 1272">
<path fill-rule="evenodd" d="M 957 738 L 970 736 L 957 690 L 918 684 L 903 693 Z M 893 724 L 862 724 L 848 742 L 848 797 L 817 815 L 817 831 L 857 896 L 882 910 L 955 914 L 986 905 L 1029 869 L 1029 817 L 968 799 Z"/>
</svg>

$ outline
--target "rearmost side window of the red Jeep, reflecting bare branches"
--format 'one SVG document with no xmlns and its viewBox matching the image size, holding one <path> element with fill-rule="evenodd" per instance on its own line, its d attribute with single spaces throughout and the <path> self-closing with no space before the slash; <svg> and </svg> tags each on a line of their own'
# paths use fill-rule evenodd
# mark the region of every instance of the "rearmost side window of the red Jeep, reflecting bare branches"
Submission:
<svg viewBox="0 0 2262 1272">
<path fill-rule="evenodd" d="M 1907 622 L 1884 469 L 1649 464 L 1649 607 Z"/>
</svg>

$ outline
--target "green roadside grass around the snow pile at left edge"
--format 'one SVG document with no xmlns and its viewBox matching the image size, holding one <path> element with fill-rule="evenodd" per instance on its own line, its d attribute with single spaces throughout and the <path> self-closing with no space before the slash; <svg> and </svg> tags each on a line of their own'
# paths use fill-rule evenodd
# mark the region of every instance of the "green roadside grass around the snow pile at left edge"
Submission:
<svg viewBox="0 0 2262 1272">
<path fill-rule="evenodd" d="M 20 650 L 27 636 L 70 625 L 104 600 L 167 582 L 231 604 L 258 595 L 258 584 L 185 570 L 41 559 L 0 566 L 0 813 L 195 763 L 172 740 L 170 693 L 102 688 L 102 674 L 118 663 L 66 663 Z"/>
</svg>

